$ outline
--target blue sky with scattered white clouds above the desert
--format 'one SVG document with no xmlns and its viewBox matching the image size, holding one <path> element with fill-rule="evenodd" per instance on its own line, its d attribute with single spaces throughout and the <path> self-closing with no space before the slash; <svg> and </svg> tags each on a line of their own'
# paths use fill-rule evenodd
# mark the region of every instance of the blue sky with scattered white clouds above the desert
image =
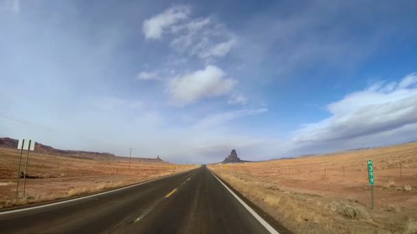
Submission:
<svg viewBox="0 0 417 234">
<path fill-rule="evenodd" d="M 417 140 L 415 1 L 0 1 L 0 136 L 221 161 Z"/>
</svg>

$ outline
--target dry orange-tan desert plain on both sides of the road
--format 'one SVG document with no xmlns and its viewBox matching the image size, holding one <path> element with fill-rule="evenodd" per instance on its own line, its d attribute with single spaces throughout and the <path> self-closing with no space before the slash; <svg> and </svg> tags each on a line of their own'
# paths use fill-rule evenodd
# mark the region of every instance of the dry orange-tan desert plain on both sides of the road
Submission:
<svg viewBox="0 0 417 234">
<path fill-rule="evenodd" d="M 374 165 L 373 209 L 368 159 Z M 24 167 L 25 154 L 22 160 Z M 199 166 L 132 158 L 129 168 L 126 157 L 31 153 L 25 196 L 20 179 L 16 200 L 18 165 L 19 151 L 0 148 L 1 209 L 85 196 Z M 294 233 L 417 233 L 417 142 L 208 168 Z"/>
</svg>

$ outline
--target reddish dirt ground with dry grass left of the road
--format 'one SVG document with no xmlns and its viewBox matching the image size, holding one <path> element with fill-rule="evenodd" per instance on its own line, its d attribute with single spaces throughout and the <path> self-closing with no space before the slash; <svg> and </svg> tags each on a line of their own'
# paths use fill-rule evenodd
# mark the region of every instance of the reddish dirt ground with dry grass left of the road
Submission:
<svg viewBox="0 0 417 234">
<path fill-rule="evenodd" d="M 24 198 L 23 179 L 19 180 L 19 201 L 16 203 L 18 165 L 17 150 L 0 148 L 0 208 L 90 194 L 198 167 L 141 163 L 132 159 L 129 169 L 128 159 L 99 161 L 31 153 L 27 175 L 34 178 L 26 179 Z"/>
</svg>

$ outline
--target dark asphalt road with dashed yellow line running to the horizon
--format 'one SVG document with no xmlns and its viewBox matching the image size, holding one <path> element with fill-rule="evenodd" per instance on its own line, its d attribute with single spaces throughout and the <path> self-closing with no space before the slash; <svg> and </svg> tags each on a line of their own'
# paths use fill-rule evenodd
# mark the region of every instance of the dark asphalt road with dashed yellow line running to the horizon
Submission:
<svg viewBox="0 0 417 234">
<path fill-rule="evenodd" d="M 282 229 L 278 231 L 287 233 Z M 270 231 L 202 166 L 91 198 L 16 213 L 0 213 L 0 233 Z"/>
</svg>

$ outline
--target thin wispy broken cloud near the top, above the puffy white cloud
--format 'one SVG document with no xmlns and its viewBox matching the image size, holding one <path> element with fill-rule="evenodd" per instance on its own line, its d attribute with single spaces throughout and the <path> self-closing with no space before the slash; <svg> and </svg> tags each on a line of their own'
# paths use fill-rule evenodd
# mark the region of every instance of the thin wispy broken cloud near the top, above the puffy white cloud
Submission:
<svg viewBox="0 0 417 234">
<path fill-rule="evenodd" d="M 145 38 L 161 38 L 171 33 L 171 47 L 178 53 L 203 60 L 224 57 L 236 44 L 236 36 L 213 16 L 189 18 L 189 7 L 173 7 L 143 23 Z"/>
</svg>

